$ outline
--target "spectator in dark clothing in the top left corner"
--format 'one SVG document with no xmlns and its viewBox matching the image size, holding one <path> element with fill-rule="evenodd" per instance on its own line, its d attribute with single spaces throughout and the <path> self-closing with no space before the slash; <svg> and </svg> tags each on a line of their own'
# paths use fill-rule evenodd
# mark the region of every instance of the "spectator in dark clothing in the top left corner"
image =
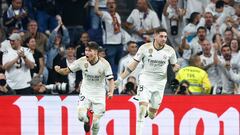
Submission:
<svg viewBox="0 0 240 135">
<path fill-rule="evenodd" d="M 28 13 L 23 9 L 22 0 L 12 0 L 9 8 L 3 13 L 3 24 L 7 28 L 17 27 L 26 30 L 29 18 Z"/>
</svg>

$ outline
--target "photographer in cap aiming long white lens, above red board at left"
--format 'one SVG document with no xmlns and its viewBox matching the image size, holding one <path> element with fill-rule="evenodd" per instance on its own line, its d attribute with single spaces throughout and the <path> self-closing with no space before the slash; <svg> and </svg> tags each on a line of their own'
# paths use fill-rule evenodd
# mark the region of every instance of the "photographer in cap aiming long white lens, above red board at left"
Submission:
<svg viewBox="0 0 240 135">
<path fill-rule="evenodd" d="M 28 82 L 31 85 L 34 94 L 66 94 L 68 93 L 68 85 L 66 83 L 49 84 L 42 83 L 40 77 L 36 76 Z"/>
</svg>

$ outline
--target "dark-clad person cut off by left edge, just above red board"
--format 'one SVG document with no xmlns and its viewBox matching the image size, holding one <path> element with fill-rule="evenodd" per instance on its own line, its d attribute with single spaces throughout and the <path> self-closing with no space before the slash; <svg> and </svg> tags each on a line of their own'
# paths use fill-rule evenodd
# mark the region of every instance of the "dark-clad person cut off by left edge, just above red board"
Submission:
<svg viewBox="0 0 240 135">
<path fill-rule="evenodd" d="M 15 95 L 7 84 L 6 76 L 3 73 L 0 73 L 0 95 Z"/>
</svg>

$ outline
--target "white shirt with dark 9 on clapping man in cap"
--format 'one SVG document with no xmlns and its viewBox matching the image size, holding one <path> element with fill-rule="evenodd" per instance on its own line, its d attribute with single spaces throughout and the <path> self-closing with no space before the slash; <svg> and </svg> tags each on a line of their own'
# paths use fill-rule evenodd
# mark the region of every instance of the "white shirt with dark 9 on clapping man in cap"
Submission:
<svg viewBox="0 0 240 135">
<path fill-rule="evenodd" d="M 32 53 L 28 48 L 21 47 L 26 57 L 35 63 Z M 16 50 L 8 50 L 3 54 L 3 65 L 13 59 L 17 58 L 18 54 Z M 5 71 L 7 83 L 12 89 L 23 89 L 30 87 L 28 82 L 31 81 L 30 69 L 25 65 L 23 58 L 19 59 L 9 70 Z"/>
</svg>

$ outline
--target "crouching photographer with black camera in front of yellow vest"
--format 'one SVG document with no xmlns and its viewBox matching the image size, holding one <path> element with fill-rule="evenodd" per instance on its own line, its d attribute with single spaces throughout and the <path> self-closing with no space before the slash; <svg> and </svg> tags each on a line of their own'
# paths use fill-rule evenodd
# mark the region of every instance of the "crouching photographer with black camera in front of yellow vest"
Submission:
<svg viewBox="0 0 240 135">
<path fill-rule="evenodd" d="M 182 80 L 179 86 L 175 91 L 175 95 L 191 95 L 192 93 L 189 91 L 190 83 L 187 80 Z"/>
</svg>

